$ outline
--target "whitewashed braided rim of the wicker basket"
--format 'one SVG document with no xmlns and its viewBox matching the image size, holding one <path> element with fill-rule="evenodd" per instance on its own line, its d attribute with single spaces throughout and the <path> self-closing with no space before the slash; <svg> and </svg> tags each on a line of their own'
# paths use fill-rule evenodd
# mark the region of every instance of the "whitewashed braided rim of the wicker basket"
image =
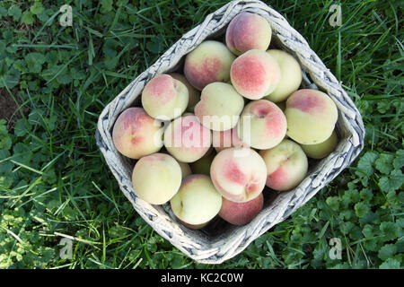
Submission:
<svg viewBox="0 0 404 287">
<path fill-rule="evenodd" d="M 324 178 L 329 175 L 326 173 L 321 174 L 320 169 L 313 175 L 313 180 L 310 180 L 309 182 L 311 185 L 315 182 L 315 185 L 310 189 L 310 192 L 304 194 L 303 188 L 299 189 L 296 187 L 293 190 L 295 191 L 294 193 L 291 191 L 288 194 L 277 196 L 278 204 L 285 204 L 285 202 L 288 202 L 288 204 L 283 206 L 285 210 L 281 214 L 282 216 L 271 218 L 272 222 L 270 223 L 268 223 L 268 219 L 265 218 L 261 218 L 255 222 L 253 221 L 255 228 L 252 230 L 252 233 L 248 233 L 251 230 L 246 230 L 245 226 L 240 227 L 245 231 L 238 232 L 238 237 L 235 236 L 232 241 L 229 240 L 231 244 L 229 243 L 226 245 L 223 242 L 212 242 L 209 245 L 203 246 L 200 242 L 196 242 L 191 236 L 189 236 L 190 232 L 184 232 L 184 230 L 178 226 L 177 222 L 171 220 L 170 216 L 167 214 L 164 216 L 164 214 L 162 214 L 162 212 L 164 212 L 162 209 L 150 204 L 150 206 L 147 206 L 147 204 L 139 203 L 141 200 L 136 197 L 133 187 L 128 185 L 127 180 L 125 181 L 125 178 L 122 176 L 122 174 L 125 174 L 130 170 L 127 170 L 122 164 L 120 164 L 120 166 L 116 164 L 117 161 L 119 162 L 120 155 L 116 149 L 114 150 L 113 143 L 111 144 L 109 134 L 111 126 L 113 125 L 111 125 L 110 122 L 115 122 L 120 111 L 126 109 L 132 103 L 130 100 L 132 95 L 136 92 L 136 97 L 139 95 L 139 92 L 143 89 L 143 87 L 141 87 L 142 84 L 145 85 L 145 83 L 150 81 L 155 74 L 168 72 L 174 64 L 177 64 L 170 63 L 170 61 L 168 64 L 165 62 L 167 59 L 170 59 L 172 53 L 176 53 L 177 56 L 182 53 L 180 57 L 189 53 L 189 51 L 181 47 L 185 42 L 190 41 L 195 48 L 195 45 L 198 45 L 198 43 L 212 34 L 204 34 L 206 33 L 206 27 L 210 28 L 209 25 L 220 23 L 223 25 L 221 28 L 223 29 L 237 13 L 241 13 L 242 11 L 259 12 L 259 14 L 264 15 L 267 20 L 270 17 L 270 20 L 268 21 L 271 24 L 273 32 L 275 32 L 275 36 L 283 45 L 283 48 L 290 50 L 294 56 L 297 57 L 299 64 L 306 73 L 310 74 L 314 84 L 327 91 L 331 99 L 336 102 L 339 114 L 338 122 L 341 120 L 345 121 L 343 124 L 350 126 L 349 132 L 351 135 L 347 138 L 347 143 L 344 146 L 341 146 L 340 152 L 336 154 L 332 159 L 332 162 L 322 161 L 322 168 L 327 167 L 328 170 L 330 170 L 329 168 L 332 166 L 333 169 L 331 170 L 334 170 L 334 174 L 332 174 L 331 177 L 324 180 Z M 221 23 L 224 18 L 226 18 L 226 22 Z M 300 48 L 301 50 L 295 50 L 294 48 Z M 136 99 L 136 97 L 134 99 Z M 117 113 L 117 111 L 119 112 Z M 110 117 L 110 115 L 113 116 Z M 109 125 L 104 126 L 105 121 L 108 120 L 110 120 Z M 111 100 L 101 112 L 97 123 L 95 137 L 97 145 L 99 146 L 109 169 L 119 182 L 121 191 L 133 204 L 136 212 L 145 219 L 145 222 L 151 225 L 157 233 L 159 233 L 164 239 L 168 239 L 172 245 L 179 248 L 187 256 L 201 263 L 218 264 L 236 256 L 242 252 L 244 248 L 247 248 L 250 242 L 254 239 L 257 239 L 261 234 L 265 233 L 278 222 L 285 220 L 285 218 L 294 213 L 297 208 L 303 206 L 303 204 L 310 200 L 322 187 L 329 183 L 329 181 L 335 178 L 352 161 L 354 161 L 364 147 L 364 123 L 355 104 L 348 97 L 347 92 L 344 91 L 341 84 L 338 83 L 336 77 L 331 74 L 329 69 L 322 63 L 320 57 L 312 51 L 312 48 L 310 48 L 307 41 L 303 39 L 303 36 L 294 30 L 282 15 L 277 13 L 273 8 L 270 8 L 267 4 L 258 0 L 236 0 L 225 4 L 214 13 L 208 14 L 204 22 L 184 34 L 171 46 L 171 48 L 168 48 L 153 65 L 149 66 L 142 74 L 139 74 L 135 80 L 129 83 L 127 87 L 114 98 L 114 100 Z M 342 152 L 345 152 L 345 155 L 343 157 L 338 157 L 338 155 L 340 156 L 343 154 Z M 345 161 L 346 157 L 347 161 Z M 337 170 L 335 170 L 336 166 L 338 166 Z M 307 176 L 304 180 L 307 178 L 309 177 Z M 296 193 L 297 196 L 294 196 Z M 174 222 L 174 225 L 171 224 L 170 226 L 166 221 L 172 221 Z M 177 226 L 175 226 L 175 224 L 177 224 Z M 185 238 L 181 238 L 181 241 L 176 241 L 176 239 L 181 236 Z"/>
</svg>

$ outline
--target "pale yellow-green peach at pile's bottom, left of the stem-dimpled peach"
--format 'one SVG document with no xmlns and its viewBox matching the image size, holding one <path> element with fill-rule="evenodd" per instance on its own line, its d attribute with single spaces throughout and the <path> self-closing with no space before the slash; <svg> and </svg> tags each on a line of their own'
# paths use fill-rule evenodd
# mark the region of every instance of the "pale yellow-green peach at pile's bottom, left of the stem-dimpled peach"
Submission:
<svg viewBox="0 0 404 287">
<path fill-rule="evenodd" d="M 170 204 L 180 221 L 198 225 L 209 222 L 219 213 L 222 196 L 208 176 L 193 174 L 182 180 L 180 190 L 171 198 Z"/>
</svg>

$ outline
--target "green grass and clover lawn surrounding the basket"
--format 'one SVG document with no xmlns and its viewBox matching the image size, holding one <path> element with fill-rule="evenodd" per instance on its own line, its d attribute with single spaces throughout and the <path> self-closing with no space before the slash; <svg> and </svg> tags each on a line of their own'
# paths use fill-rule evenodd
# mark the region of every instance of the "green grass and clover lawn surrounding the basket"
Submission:
<svg viewBox="0 0 404 287">
<path fill-rule="evenodd" d="M 364 151 L 308 204 L 223 265 L 162 239 L 119 191 L 98 115 L 225 1 L 0 3 L 0 268 L 402 268 L 403 18 L 400 1 L 268 1 L 309 41 L 364 118 Z M 62 4 L 74 26 L 61 27 Z M 13 126 L 14 119 L 18 118 Z M 58 243 L 73 237 L 73 258 Z M 329 258 L 341 239 L 342 259 Z"/>
</svg>

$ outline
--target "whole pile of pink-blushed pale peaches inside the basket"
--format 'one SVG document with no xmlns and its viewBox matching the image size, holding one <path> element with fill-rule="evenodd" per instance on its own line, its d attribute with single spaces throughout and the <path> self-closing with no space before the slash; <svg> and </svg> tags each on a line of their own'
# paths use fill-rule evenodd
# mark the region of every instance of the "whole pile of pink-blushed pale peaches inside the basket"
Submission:
<svg viewBox="0 0 404 287">
<path fill-rule="evenodd" d="M 239 13 L 223 41 L 200 43 L 186 55 L 182 74 L 156 75 L 141 106 L 124 110 L 113 126 L 117 150 L 137 160 L 136 195 L 170 203 L 191 229 L 216 215 L 235 225 L 252 221 L 263 193 L 297 187 L 308 158 L 336 148 L 334 101 L 299 89 L 300 65 L 269 48 L 271 36 L 265 18 Z"/>
</svg>

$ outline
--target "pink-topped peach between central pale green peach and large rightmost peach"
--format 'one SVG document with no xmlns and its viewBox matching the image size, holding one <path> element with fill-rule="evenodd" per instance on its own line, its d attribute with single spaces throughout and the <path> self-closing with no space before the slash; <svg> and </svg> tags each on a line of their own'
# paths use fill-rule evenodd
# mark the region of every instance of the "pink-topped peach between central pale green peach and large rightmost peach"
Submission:
<svg viewBox="0 0 404 287">
<path fill-rule="evenodd" d="M 286 129 L 286 117 L 275 103 L 253 100 L 242 110 L 237 134 L 250 147 L 266 150 L 284 139 Z"/>
</svg>

